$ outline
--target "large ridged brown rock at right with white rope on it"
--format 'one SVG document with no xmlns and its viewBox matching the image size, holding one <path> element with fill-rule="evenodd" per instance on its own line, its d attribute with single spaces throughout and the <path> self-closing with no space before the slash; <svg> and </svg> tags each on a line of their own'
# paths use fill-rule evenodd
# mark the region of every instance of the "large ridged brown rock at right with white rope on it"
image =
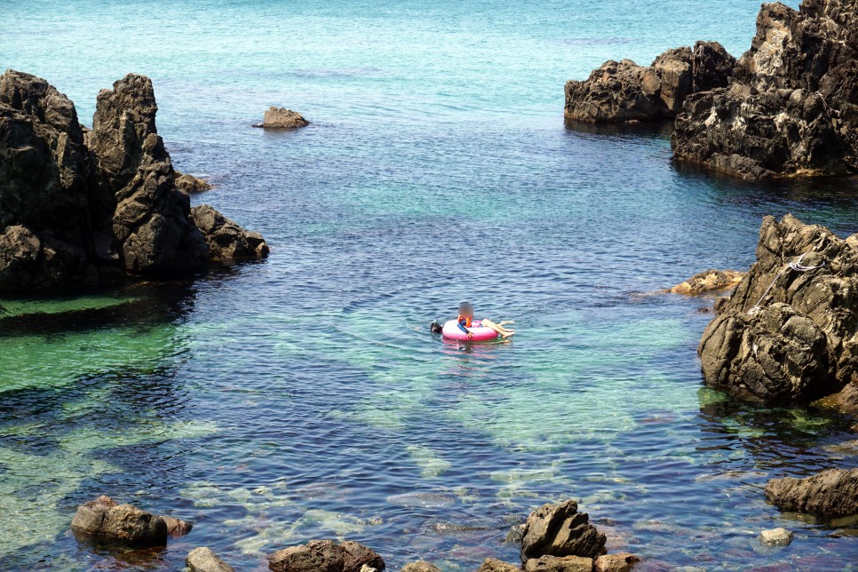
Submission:
<svg viewBox="0 0 858 572">
<path fill-rule="evenodd" d="M 837 392 L 858 379 L 858 234 L 764 218 L 757 262 L 716 312 L 698 348 L 709 385 L 773 404 Z"/>
</svg>

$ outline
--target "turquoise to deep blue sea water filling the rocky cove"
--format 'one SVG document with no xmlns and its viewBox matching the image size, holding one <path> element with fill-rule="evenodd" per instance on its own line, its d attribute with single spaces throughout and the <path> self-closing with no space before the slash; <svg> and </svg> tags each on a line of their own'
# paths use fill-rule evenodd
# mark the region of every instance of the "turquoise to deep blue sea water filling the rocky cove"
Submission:
<svg viewBox="0 0 858 572">
<path fill-rule="evenodd" d="M 790 3 L 795 5 L 794 2 Z M 671 163 L 659 128 L 571 131 L 604 60 L 750 45 L 756 2 L 0 5 L 0 67 L 90 123 L 155 83 L 181 171 L 272 252 L 195 282 L 0 300 L 0 568 L 236 569 L 320 537 L 398 569 L 515 561 L 507 528 L 575 497 L 640 569 L 855 569 L 858 522 L 767 504 L 767 479 L 858 466 L 849 423 L 703 386 L 708 298 L 653 294 L 753 261 L 760 219 L 858 231 L 858 183 L 749 184 Z M 313 122 L 250 127 L 269 105 Z M 471 300 L 515 320 L 460 346 Z M 78 544 L 107 494 L 193 520 L 165 549 Z M 781 550 L 756 540 L 783 526 Z"/>
</svg>

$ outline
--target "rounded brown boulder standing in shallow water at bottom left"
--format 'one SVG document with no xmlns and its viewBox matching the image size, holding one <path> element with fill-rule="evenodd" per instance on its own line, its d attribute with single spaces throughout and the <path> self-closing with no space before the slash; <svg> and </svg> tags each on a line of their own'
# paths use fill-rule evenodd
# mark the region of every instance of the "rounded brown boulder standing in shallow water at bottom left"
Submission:
<svg viewBox="0 0 858 572">
<path fill-rule="evenodd" d="M 99 541 L 130 546 L 167 544 L 167 524 L 160 516 L 131 504 L 116 504 L 110 497 L 78 506 L 71 528 L 78 535 Z"/>
</svg>

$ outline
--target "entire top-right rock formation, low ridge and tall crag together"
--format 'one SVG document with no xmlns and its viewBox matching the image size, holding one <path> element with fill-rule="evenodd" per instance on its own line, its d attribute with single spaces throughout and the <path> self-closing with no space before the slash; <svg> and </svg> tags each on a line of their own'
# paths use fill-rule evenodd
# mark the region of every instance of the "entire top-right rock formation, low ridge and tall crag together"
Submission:
<svg viewBox="0 0 858 572">
<path fill-rule="evenodd" d="M 565 115 L 588 123 L 674 120 L 677 161 L 743 179 L 858 172 L 855 2 L 763 4 L 751 49 L 664 52 L 648 68 L 608 61 L 566 85 Z"/>
</svg>

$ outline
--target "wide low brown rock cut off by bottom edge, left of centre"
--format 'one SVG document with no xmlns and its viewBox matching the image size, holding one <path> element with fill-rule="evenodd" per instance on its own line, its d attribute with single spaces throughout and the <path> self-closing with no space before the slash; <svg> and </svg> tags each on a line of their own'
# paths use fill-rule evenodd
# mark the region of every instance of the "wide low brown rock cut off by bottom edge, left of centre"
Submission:
<svg viewBox="0 0 858 572">
<path fill-rule="evenodd" d="M 385 560 L 363 544 L 311 540 L 268 556 L 274 572 L 361 572 L 364 567 L 385 569 Z"/>
</svg>

